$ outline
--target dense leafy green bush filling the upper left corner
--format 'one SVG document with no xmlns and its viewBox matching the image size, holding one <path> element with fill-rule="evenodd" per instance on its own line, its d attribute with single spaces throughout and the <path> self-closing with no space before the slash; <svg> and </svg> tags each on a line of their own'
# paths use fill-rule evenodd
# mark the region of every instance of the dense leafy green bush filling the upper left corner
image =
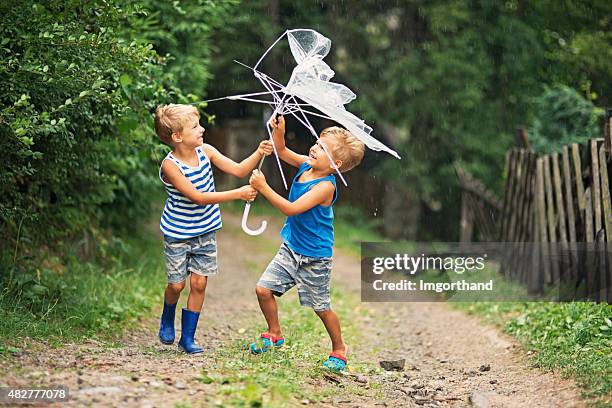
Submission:
<svg viewBox="0 0 612 408">
<path fill-rule="evenodd" d="M 120 36 L 130 8 L 0 7 L 2 241 L 22 222 L 22 235 L 57 239 L 100 220 L 100 206 L 125 191 L 123 178 L 145 170 L 129 162 L 136 147 L 151 147 L 135 130 L 150 125 L 149 111 L 168 91 L 152 80 L 162 71 L 151 47 Z"/>
</svg>

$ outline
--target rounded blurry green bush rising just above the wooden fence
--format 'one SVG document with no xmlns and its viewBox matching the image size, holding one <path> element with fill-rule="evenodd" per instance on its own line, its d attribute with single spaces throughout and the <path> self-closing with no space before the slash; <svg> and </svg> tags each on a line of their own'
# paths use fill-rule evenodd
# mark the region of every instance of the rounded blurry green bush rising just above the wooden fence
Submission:
<svg viewBox="0 0 612 408">
<path fill-rule="evenodd" d="M 603 109 L 567 86 L 547 88 L 535 100 L 529 140 L 539 153 L 559 151 L 569 143 L 584 143 L 601 135 Z"/>
</svg>

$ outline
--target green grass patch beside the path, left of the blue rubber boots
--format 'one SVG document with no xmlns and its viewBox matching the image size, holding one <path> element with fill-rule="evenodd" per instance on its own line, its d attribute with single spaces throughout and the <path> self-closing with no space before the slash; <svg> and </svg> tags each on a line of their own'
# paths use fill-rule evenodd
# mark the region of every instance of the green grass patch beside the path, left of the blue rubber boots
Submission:
<svg viewBox="0 0 612 408">
<path fill-rule="evenodd" d="M 127 238 L 98 239 L 93 259 L 48 254 L 5 281 L 0 354 L 18 352 L 28 338 L 54 346 L 91 337 L 115 339 L 160 298 L 165 272 L 157 236 L 143 230 Z"/>
</svg>

